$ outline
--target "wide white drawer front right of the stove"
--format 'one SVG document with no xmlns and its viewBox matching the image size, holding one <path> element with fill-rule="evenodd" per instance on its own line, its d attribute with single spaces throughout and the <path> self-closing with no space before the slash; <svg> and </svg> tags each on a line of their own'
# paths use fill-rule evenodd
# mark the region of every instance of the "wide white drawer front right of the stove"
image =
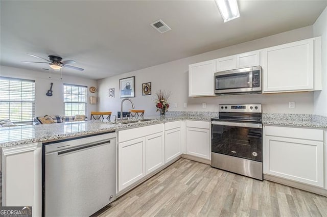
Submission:
<svg viewBox="0 0 327 217">
<path fill-rule="evenodd" d="M 264 133 L 265 135 L 271 135 L 274 137 L 323 141 L 322 129 L 265 126 Z"/>
</svg>

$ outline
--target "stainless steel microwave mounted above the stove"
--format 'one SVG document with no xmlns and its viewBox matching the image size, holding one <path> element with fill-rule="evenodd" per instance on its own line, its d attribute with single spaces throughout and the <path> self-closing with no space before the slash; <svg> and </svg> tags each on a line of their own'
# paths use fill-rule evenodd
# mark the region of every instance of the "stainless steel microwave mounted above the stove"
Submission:
<svg viewBox="0 0 327 217">
<path fill-rule="evenodd" d="M 246 94 L 261 92 L 261 66 L 215 73 L 216 94 Z"/>
</svg>

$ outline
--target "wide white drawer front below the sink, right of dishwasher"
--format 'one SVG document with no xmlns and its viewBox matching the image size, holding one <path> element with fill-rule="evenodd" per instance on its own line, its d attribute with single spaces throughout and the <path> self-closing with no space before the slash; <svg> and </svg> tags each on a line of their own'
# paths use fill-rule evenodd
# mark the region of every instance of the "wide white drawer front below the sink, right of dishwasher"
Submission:
<svg viewBox="0 0 327 217">
<path fill-rule="evenodd" d="M 133 129 L 121 130 L 118 131 L 118 142 L 121 143 L 136 138 L 146 137 L 147 135 L 162 131 L 164 131 L 164 124 L 155 124 L 150 126 L 137 127 Z"/>
</svg>

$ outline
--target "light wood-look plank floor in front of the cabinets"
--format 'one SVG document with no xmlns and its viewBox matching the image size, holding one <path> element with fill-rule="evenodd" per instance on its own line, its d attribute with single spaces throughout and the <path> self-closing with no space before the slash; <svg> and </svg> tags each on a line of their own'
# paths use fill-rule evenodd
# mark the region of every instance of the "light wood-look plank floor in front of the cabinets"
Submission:
<svg viewBox="0 0 327 217">
<path fill-rule="evenodd" d="M 181 158 L 97 215 L 327 216 L 327 198 Z"/>
</svg>

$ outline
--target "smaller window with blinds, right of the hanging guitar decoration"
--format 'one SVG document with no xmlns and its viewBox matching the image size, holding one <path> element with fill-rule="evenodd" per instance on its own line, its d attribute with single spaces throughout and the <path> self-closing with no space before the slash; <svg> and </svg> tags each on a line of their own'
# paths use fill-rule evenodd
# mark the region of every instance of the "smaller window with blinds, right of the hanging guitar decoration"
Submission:
<svg viewBox="0 0 327 217">
<path fill-rule="evenodd" d="M 66 116 L 86 115 L 87 87 L 63 84 L 63 101 Z"/>
</svg>

